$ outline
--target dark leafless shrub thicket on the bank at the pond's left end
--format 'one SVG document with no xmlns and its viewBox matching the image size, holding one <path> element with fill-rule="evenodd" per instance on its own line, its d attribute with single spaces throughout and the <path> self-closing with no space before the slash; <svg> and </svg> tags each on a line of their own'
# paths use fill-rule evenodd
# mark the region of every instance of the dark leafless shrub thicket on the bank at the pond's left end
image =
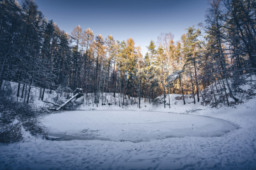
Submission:
<svg viewBox="0 0 256 170">
<path fill-rule="evenodd" d="M 22 127 L 31 135 L 47 134 L 39 113 L 26 103 L 16 102 L 12 91 L 0 90 L 0 143 L 18 143 L 23 139 Z"/>
</svg>

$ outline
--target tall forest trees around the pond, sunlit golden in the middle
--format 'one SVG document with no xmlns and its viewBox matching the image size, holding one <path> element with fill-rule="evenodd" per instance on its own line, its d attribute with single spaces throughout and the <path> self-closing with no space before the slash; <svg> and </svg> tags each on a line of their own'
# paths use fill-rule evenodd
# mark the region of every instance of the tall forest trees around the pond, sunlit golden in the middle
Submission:
<svg viewBox="0 0 256 170">
<path fill-rule="evenodd" d="M 256 68 L 256 3 L 211 0 L 209 5 L 200 25 L 204 37 L 194 26 L 179 42 L 173 42 L 172 33 L 161 33 L 143 56 L 132 38 L 119 42 L 80 26 L 68 35 L 47 21 L 33 0 L 21 5 L 1 0 L 0 86 L 3 80 L 19 82 L 17 97 L 26 102 L 32 86 L 41 88 L 42 100 L 45 88 L 82 88 L 97 104 L 103 93 L 122 94 L 119 104 L 136 97 L 139 106 L 140 97 L 152 102 L 170 93 L 182 94 L 184 104 L 184 95 L 212 106 L 230 105 L 229 97 L 240 102 L 236 92 Z"/>
</svg>

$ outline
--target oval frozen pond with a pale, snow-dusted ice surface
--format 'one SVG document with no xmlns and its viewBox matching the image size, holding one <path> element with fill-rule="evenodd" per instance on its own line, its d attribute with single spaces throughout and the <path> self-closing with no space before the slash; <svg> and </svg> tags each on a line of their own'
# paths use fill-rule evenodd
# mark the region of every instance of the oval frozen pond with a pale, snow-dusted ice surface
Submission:
<svg viewBox="0 0 256 170">
<path fill-rule="evenodd" d="M 214 137 L 236 128 L 225 120 L 152 111 L 69 111 L 45 116 L 51 135 L 66 139 L 151 141 L 170 137 Z"/>
</svg>

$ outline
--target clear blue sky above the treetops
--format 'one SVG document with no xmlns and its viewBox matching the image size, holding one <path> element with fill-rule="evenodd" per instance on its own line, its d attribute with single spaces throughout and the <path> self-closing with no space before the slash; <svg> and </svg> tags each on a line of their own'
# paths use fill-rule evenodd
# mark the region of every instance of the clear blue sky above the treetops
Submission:
<svg viewBox="0 0 256 170">
<path fill-rule="evenodd" d="M 19 0 L 19 3 L 21 0 Z M 207 0 L 35 0 L 38 10 L 47 20 L 56 22 L 60 29 L 71 33 L 80 25 L 90 27 L 94 35 L 104 38 L 113 35 L 115 40 L 134 39 L 143 54 L 150 40 L 157 42 L 161 33 L 171 32 L 174 40 L 180 39 L 186 28 L 205 20 L 209 8 Z"/>
</svg>

